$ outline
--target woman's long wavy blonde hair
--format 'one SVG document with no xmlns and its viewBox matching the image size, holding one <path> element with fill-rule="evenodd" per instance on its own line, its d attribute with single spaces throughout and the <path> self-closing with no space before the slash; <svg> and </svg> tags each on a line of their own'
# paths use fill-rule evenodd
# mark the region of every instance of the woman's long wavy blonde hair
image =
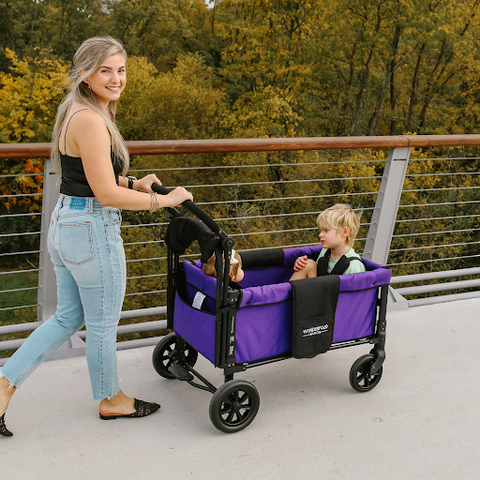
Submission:
<svg viewBox="0 0 480 480">
<path fill-rule="evenodd" d="M 127 52 L 121 42 L 107 36 L 92 37 L 85 40 L 73 57 L 73 67 L 69 75 L 70 92 L 58 107 L 52 135 L 51 158 L 59 175 L 62 171 L 59 152 L 60 133 L 73 102 L 85 105 L 104 119 L 112 141 L 112 150 L 122 166 L 123 175 L 127 173 L 129 165 L 128 149 L 115 123 L 117 102 L 111 101 L 108 109 L 105 110 L 98 102 L 97 96 L 84 83 L 84 80 L 98 70 L 108 57 L 118 54 L 123 55 L 125 62 L 127 61 Z"/>
</svg>

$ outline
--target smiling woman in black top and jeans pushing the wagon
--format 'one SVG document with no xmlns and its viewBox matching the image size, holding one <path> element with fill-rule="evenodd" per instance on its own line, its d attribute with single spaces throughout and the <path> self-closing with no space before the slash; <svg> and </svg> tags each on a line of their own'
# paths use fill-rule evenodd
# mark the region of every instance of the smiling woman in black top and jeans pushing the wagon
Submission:
<svg viewBox="0 0 480 480">
<path fill-rule="evenodd" d="M 116 102 L 126 84 L 127 55 L 110 37 L 86 40 L 74 56 L 71 92 L 57 112 L 52 158 L 61 173 L 48 248 L 57 276 L 56 313 L 25 341 L 0 371 L 0 434 L 9 401 L 23 381 L 84 324 L 94 400 L 104 420 L 143 417 L 160 408 L 119 388 L 116 329 L 126 266 L 120 209 L 177 206 L 192 195 L 178 187 L 158 196 L 156 175 L 125 177 L 128 151 L 115 125 Z"/>
</svg>

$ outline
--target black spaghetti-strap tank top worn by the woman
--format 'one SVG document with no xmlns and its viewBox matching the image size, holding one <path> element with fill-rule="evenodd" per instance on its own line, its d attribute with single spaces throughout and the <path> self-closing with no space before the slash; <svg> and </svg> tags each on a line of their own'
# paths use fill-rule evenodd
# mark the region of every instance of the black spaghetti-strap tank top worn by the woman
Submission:
<svg viewBox="0 0 480 480">
<path fill-rule="evenodd" d="M 87 109 L 84 108 L 82 110 Z M 75 113 L 73 113 L 73 115 L 81 112 L 82 110 L 77 110 Z M 65 128 L 65 151 L 67 148 L 67 130 L 73 115 L 68 119 L 68 123 Z M 80 157 L 71 157 L 66 153 L 59 153 L 60 162 L 62 165 L 62 183 L 60 184 L 60 193 L 70 197 L 94 197 L 95 194 L 90 188 L 87 177 L 85 176 L 82 159 Z M 118 177 L 123 170 L 123 159 L 116 155 L 111 149 L 110 158 L 112 160 L 113 171 L 115 172 L 115 181 L 118 185 Z"/>
</svg>

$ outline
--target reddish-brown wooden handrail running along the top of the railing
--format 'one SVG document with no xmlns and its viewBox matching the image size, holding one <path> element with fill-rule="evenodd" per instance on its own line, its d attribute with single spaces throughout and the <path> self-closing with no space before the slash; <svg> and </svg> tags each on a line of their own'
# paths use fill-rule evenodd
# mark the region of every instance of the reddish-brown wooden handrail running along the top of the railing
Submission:
<svg viewBox="0 0 480 480">
<path fill-rule="evenodd" d="M 127 142 L 131 155 L 166 155 L 287 150 L 348 150 L 480 145 L 480 135 L 397 135 L 384 137 L 239 138 Z M 2 143 L 0 158 L 47 158 L 50 143 Z"/>
</svg>

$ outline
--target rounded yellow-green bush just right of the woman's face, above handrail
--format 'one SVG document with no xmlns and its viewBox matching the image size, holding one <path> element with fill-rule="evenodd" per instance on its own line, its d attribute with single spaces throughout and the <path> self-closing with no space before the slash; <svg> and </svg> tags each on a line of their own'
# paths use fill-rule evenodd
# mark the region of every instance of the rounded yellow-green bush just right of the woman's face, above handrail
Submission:
<svg viewBox="0 0 480 480">
<path fill-rule="evenodd" d="M 169 73 L 158 73 L 145 58 L 131 58 L 128 75 L 118 114 L 126 138 L 216 137 L 223 92 L 199 55 L 181 55 Z"/>
</svg>

